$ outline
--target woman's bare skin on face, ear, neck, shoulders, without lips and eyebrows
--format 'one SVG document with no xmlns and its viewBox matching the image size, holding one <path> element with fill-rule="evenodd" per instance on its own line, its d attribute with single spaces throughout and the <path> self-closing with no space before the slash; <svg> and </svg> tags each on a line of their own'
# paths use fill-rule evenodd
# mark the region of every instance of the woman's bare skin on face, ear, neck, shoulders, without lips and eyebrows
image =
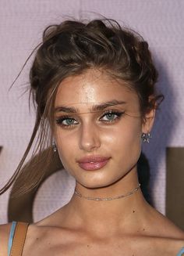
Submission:
<svg viewBox="0 0 184 256">
<path fill-rule="evenodd" d="M 112 100 L 124 103 L 93 110 Z M 78 112 L 65 113 L 63 106 L 75 107 Z M 109 110 L 124 114 L 108 116 L 105 111 Z M 141 134 L 150 132 L 154 114 L 151 110 L 142 118 L 136 93 L 103 72 L 88 70 L 62 81 L 55 99 L 55 142 L 62 164 L 76 178 L 80 193 L 115 197 L 138 186 Z M 61 122 L 63 116 L 68 119 Z M 80 168 L 78 160 L 91 155 L 109 157 L 108 164 L 96 171 Z M 9 228 L 2 225 L 0 229 L 2 255 L 7 255 Z M 176 255 L 182 246 L 182 230 L 150 207 L 139 189 L 130 197 L 100 202 L 73 195 L 69 204 L 29 226 L 23 256 L 168 256 Z"/>
</svg>

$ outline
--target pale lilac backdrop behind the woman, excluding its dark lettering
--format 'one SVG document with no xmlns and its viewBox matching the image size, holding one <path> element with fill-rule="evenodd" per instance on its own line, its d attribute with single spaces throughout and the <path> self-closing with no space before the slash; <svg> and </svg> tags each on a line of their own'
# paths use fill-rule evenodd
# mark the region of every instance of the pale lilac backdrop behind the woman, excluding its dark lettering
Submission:
<svg viewBox="0 0 184 256">
<path fill-rule="evenodd" d="M 28 109 L 28 95 L 22 95 L 27 86 L 30 63 L 9 91 L 12 81 L 40 41 L 44 27 L 69 17 L 97 16 L 95 13 L 114 18 L 139 31 L 154 53 L 160 72 L 158 85 L 165 94 L 165 102 L 157 113 L 153 139 L 143 150 L 150 160 L 150 186 L 154 204 L 159 211 L 165 213 L 165 147 L 184 146 L 182 0 L 0 1 L 0 146 L 3 146 L 0 155 L 0 186 L 5 184 L 15 170 L 34 124 L 34 113 Z M 73 180 L 69 186 L 63 186 L 66 180 L 64 176 L 57 174 L 51 177 L 44 184 L 47 189 L 44 186 L 40 189 L 34 205 L 36 219 L 64 204 L 63 191 L 66 195 L 69 189 L 71 194 Z M 0 223 L 7 221 L 8 197 L 9 192 L 0 197 Z"/>
</svg>

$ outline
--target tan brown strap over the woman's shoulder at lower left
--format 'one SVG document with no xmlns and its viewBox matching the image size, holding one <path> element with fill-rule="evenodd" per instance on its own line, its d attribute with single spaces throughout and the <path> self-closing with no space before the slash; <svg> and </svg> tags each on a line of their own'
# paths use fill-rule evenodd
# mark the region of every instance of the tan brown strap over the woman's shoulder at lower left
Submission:
<svg viewBox="0 0 184 256">
<path fill-rule="evenodd" d="M 9 256 L 21 256 L 29 223 L 17 222 Z"/>
</svg>

